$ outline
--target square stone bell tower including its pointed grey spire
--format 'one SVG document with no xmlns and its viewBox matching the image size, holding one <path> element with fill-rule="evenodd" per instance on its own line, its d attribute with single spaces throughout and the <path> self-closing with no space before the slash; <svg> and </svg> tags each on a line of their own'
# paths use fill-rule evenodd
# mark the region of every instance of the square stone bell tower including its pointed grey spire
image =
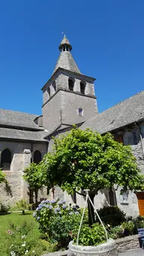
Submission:
<svg viewBox="0 0 144 256">
<path fill-rule="evenodd" d="M 43 86 L 43 127 L 49 132 L 62 125 L 85 122 L 98 113 L 95 78 L 80 73 L 66 36 L 52 77 Z"/>
</svg>

